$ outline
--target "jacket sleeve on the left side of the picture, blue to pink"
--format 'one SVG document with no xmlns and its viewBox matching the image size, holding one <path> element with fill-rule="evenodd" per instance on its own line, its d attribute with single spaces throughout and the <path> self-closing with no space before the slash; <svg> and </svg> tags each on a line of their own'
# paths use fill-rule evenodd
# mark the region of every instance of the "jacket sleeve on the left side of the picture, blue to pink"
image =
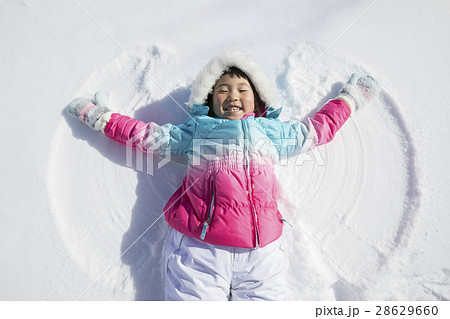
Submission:
<svg viewBox="0 0 450 319">
<path fill-rule="evenodd" d="M 193 139 L 195 127 L 196 123 L 192 118 L 181 125 L 158 125 L 113 113 L 103 133 L 127 147 L 144 153 L 184 154 Z"/>
</svg>

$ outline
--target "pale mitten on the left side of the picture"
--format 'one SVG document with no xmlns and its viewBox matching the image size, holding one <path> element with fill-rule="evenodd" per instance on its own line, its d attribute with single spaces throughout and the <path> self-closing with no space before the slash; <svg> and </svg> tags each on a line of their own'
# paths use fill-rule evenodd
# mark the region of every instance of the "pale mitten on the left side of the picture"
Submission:
<svg viewBox="0 0 450 319">
<path fill-rule="evenodd" d="M 74 99 L 66 106 L 65 110 L 95 131 L 101 130 L 100 119 L 103 115 L 111 112 L 100 91 L 95 93 L 94 98 L 78 97 Z"/>
</svg>

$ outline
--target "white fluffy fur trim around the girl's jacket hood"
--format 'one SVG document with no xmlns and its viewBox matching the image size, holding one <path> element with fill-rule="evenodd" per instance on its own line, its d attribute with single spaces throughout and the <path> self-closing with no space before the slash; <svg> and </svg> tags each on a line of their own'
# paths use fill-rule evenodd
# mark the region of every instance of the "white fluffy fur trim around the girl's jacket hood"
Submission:
<svg viewBox="0 0 450 319">
<path fill-rule="evenodd" d="M 259 96 L 267 106 L 272 106 L 276 101 L 275 85 L 272 83 L 253 59 L 235 49 L 228 50 L 215 58 L 203 68 L 197 75 L 191 89 L 191 96 L 187 103 L 192 110 L 194 104 L 204 104 L 208 94 L 222 73 L 229 67 L 241 69 L 252 81 Z"/>
</svg>

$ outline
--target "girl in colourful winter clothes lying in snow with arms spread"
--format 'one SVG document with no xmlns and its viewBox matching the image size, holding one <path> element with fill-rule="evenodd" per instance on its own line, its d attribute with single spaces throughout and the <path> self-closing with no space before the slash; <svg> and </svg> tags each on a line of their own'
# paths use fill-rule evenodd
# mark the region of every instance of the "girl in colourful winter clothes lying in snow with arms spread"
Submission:
<svg viewBox="0 0 450 319">
<path fill-rule="evenodd" d="M 164 208 L 167 300 L 282 300 L 286 297 L 274 164 L 312 142 L 330 142 L 350 115 L 379 93 L 353 74 L 305 122 L 281 122 L 275 90 L 250 57 L 227 51 L 198 75 L 181 125 L 144 123 L 111 112 L 100 93 L 67 112 L 143 152 L 186 154 L 181 187 Z"/>
</svg>

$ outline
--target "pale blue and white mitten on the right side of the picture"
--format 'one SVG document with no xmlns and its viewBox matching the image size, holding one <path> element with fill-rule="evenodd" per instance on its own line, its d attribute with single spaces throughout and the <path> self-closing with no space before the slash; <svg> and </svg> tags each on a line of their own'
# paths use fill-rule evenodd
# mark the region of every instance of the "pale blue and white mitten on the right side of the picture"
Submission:
<svg viewBox="0 0 450 319">
<path fill-rule="evenodd" d="M 359 76 L 353 73 L 336 99 L 344 100 L 352 114 L 362 109 L 380 93 L 380 84 L 371 75 Z"/>
</svg>

